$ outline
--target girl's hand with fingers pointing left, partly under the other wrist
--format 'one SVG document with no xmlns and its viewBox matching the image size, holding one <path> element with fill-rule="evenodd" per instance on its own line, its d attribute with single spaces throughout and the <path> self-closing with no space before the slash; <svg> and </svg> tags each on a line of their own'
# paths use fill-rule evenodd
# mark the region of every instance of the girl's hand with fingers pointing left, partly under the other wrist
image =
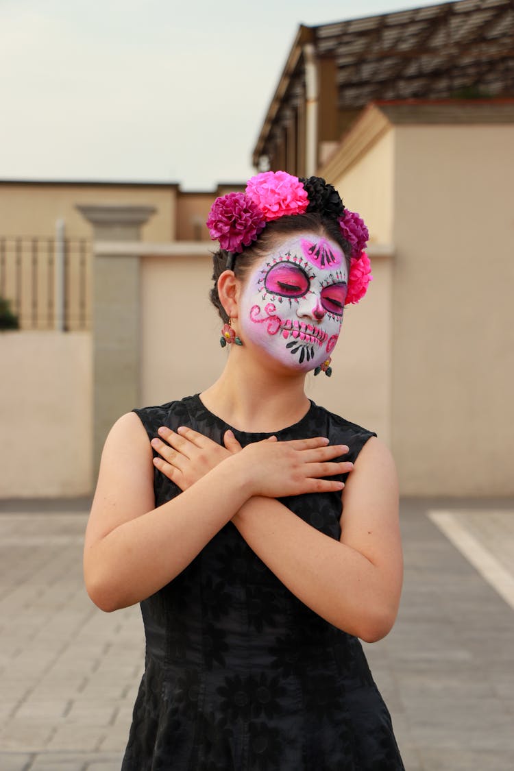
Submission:
<svg viewBox="0 0 514 771">
<path fill-rule="evenodd" d="M 180 426 L 176 432 L 161 426 L 158 433 L 160 439 L 152 439 L 151 445 L 162 457 L 154 458 L 153 465 L 180 490 L 187 490 L 214 466 L 241 449 L 230 430 L 223 436 L 224 446 L 186 426 Z"/>
</svg>

